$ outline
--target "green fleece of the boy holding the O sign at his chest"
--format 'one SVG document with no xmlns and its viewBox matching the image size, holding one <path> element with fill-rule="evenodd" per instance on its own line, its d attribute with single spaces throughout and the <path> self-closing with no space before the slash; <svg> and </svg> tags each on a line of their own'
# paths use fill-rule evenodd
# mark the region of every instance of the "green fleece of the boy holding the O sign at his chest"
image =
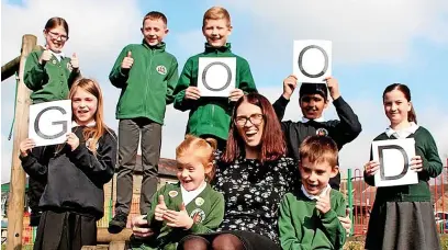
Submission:
<svg viewBox="0 0 448 250">
<path fill-rule="evenodd" d="M 214 135 L 227 140 L 233 103 L 227 98 L 200 98 L 186 100 L 186 89 L 190 86 L 198 87 L 198 67 L 200 57 L 236 57 L 235 87 L 245 93 L 256 92 L 254 78 L 249 64 L 243 57 L 232 53 L 231 44 L 215 48 L 205 44 L 205 52 L 190 57 L 182 70 L 179 82 L 175 89 L 175 109 L 190 110 L 187 124 L 187 134 L 195 136 Z"/>
</svg>

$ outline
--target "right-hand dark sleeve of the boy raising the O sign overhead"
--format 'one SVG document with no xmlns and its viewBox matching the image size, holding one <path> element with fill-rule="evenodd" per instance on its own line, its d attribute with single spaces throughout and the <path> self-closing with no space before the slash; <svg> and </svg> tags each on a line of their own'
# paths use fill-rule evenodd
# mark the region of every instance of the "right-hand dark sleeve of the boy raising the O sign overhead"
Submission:
<svg viewBox="0 0 448 250">
<path fill-rule="evenodd" d="M 336 124 L 336 129 L 338 133 L 336 133 L 334 136 L 332 135 L 332 138 L 340 147 L 358 137 L 362 130 L 362 127 L 359 123 L 358 116 L 341 96 L 334 100 L 333 104 L 336 107 L 340 122 Z"/>
</svg>

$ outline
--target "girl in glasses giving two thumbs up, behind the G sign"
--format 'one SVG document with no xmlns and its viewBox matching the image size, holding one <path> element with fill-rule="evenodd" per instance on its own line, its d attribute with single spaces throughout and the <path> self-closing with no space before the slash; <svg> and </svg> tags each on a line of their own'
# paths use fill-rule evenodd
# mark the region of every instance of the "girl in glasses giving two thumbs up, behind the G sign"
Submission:
<svg viewBox="0 0 448 250">
<path fill-rule="evenodd" d="M 61 53 L 68 39 L 68 24 L 63 18 L 52 18 L 44 29 L 45 49 L 34 50 L 25 64 L 23 81 L 32 90 L 33 104 L 67 99 L 70 86 L 80 77 L 76 54 L 71 58 Z M 45 181 L 30 178 L 27 193 L 31 208 L 30 225 L 37 226 L 41 218 L 38 201 L 44 192 Z"/>
</svg>

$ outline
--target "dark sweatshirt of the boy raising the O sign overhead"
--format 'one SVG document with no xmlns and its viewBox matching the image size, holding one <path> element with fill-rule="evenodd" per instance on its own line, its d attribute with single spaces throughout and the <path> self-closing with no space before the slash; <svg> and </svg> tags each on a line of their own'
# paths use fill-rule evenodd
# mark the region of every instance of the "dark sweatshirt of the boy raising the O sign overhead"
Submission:
<svg viewBox="0 0 448 250">
<path fill-rule="evenodd" d="M 287 109 L 288 103 L 289 100 L 281 95 L 272 104 L 279 121 L 283 118 L 284 110 Z M 288 157 L 299 160 L 300 145 L 309 136 L 329 136 L 336 143 L 338 150 L 340 150 L 344 145 L 358 137 L 362 130 L 361 124 L 359 123 L 358 116 L 355 114 L 348 103 L 343 99 L 343 96 L 339 96 L 333 101 L 333 104 L 336 107 L 336 113 L 339 116 L 339 120 L 325 121 L 321 117 L 318 120 L 302 118 L 302 121 L 299 122 L 281 122 L 281 128 L 288 146 Z M 336 177 L 329 179 L 329 184 L 333 189 L 339 190 L 339 172 Z"/>
</svg>

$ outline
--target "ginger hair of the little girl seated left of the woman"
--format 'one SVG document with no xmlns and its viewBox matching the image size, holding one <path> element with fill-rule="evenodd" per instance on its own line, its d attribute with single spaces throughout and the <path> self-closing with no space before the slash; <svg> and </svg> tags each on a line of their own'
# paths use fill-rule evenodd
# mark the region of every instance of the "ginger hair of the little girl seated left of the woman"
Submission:
<svg viewBox="0 0 448 250">
<path fill-rule="evenodd" d="M 176 148 L 176 158 L 194 154 L 201 159 L 205 167 L 214 161 L 214 151 L 216 150 L 217 141 L 213 138 L 200 138 L 193 135 L 187 135 L 186 139 Z M 213 179 L 214 167 L 206 174 L 208 181 Z"/>
</svg>

